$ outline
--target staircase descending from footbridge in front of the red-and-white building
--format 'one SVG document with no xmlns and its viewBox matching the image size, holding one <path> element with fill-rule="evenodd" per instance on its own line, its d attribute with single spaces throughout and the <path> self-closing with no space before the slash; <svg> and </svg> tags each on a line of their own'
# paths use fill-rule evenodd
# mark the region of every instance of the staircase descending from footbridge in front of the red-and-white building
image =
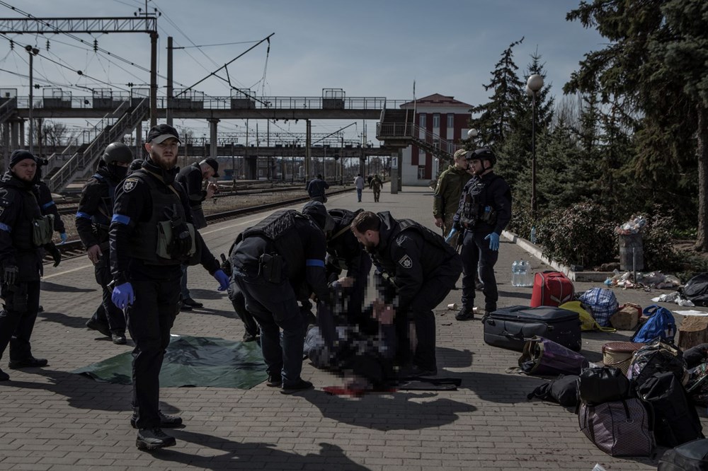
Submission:
<svg viewBox="0 0 708 471">
<path fill-rule="evenodd" d="M 384 141 L 387 146 L 408 147 L 411 144 L 430 152 L 440 161 L 452 163 L 452 155 L 456 146 L 451 141 L 442 139 L 438 134 L 433 134 L 426 129 L 414 124 L 415 112 L 413 110 L 387 110 L 381 111 L 381 119 L 376 124 L 376 139 Z"/>
</svg>

